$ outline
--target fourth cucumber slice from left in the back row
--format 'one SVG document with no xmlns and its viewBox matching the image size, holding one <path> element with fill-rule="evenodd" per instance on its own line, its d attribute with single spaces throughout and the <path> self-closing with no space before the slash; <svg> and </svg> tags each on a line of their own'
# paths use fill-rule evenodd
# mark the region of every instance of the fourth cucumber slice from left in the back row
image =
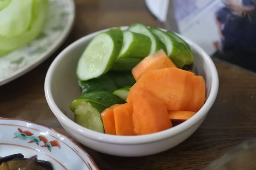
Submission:
<svg viewBox="0 0 256 170">
<path fill-rule="evenodd" d="M 150 30 L 166 45 L 168 57 L 178 68 L 182 68 L 185 64 L 194 61 L 194 57 L 190 55 L 190 51 L 188 51 L 183 43 L 156 27 L 150 27 Z"/>
</svg>

